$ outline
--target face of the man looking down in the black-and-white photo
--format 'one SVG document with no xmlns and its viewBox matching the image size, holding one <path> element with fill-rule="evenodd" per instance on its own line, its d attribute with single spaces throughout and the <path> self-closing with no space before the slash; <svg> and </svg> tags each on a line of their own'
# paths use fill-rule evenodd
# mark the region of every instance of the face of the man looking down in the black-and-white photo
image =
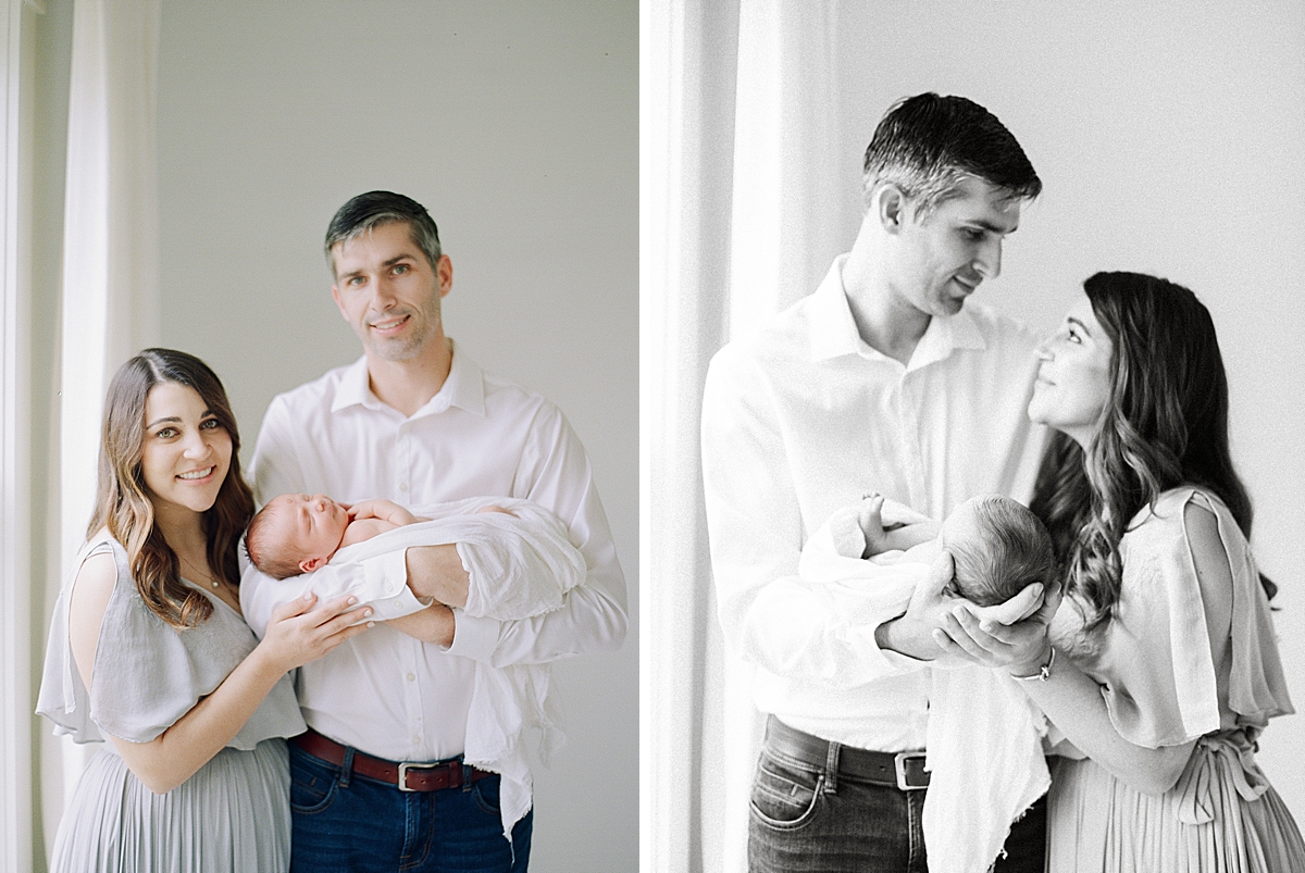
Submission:
<svg viewBox="0 0 1305 873">
<path fill-rule="evenodd" d="M 929 316 L 954 316 L 1001 273 L 1001 243 L 1019 227 L 1019 200 L 967 176 L 923 219 L 907 207 L 890 266 L 894 296 Z"/>
</svg>

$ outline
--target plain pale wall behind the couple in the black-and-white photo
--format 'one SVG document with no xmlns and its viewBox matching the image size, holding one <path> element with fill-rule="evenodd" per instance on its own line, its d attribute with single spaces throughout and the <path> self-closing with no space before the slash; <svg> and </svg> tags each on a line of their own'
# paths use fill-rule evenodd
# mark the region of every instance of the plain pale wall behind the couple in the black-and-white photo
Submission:
<svg viewBox="0 0 1305 873">
<path fill-rule="evenodd" d="M 1253 544 L 1279 583 L 1288 685 L 1305 709 L 1305 7 L 1036 0 L 838 5 L 846 197 L 897 99 L 933 90 L 993 111 L 1044 184 L 980 299 L 1054 326 L 1098 270 L 1189 286 L 1219 330 Z M 1305 718 L 1276 720 L 1261 762 L 1305 817 Z"/>
</svg>

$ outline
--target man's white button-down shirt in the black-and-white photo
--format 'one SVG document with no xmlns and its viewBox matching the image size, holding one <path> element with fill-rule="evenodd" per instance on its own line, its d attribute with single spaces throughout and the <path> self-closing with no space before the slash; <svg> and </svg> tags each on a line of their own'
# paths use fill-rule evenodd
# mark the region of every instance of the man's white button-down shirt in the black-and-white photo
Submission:
<svg viewBox="0 0 1305 873">
<path fill-rule="evenodd" d="M 851 621 L 799 579 L 799 557 L 834 510 L 872 491 L 940 521 L 975 495 L 1027 501 L 1044 444 L 1026 415 L 1036 339 L 967 303 L 933 318 L 903 365 L 860 338 L 844 260 L 711 361 L 702 466 L 719 616 L 757 668 L 763 712 L 863 749 L 923 749 L 929 668 L 874 645 L 899 599 Z"/>
</svg>

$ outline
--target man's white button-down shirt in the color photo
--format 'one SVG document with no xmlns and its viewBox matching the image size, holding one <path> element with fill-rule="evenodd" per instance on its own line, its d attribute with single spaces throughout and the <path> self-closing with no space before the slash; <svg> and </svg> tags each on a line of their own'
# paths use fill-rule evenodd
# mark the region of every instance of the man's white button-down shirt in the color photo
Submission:
<svg viewBox="0 0 1305 873">
<path fill-rule="evenodd" d="M 423 508 L 476 496 L 532 500 L 561 518 L 585 556 L 586 579 L 559 611 L 496 621 L 455 609 L 448 650 L 378 624 L 301 667 L 304 719 L 339 743 L 392 761 L 461 754 L 475 662 L 545 663 L 611 651 L 625 637 L 625 578 L 579 438 L 548 401 L 482 372 L 463 352 L 454 351 L 444 386 L 410 418 L 371 391 L 365 358 L 278 395 L 252 466 L 260 504 L 284 492 Z M 320 594 L 356 592 L 376 619 L 420 608 L 405 585 L 402 551 L 318 575 Z M 273 607 L 299 592 L 253 568 L 241 589 L 260 634 Z"/>
</svg>

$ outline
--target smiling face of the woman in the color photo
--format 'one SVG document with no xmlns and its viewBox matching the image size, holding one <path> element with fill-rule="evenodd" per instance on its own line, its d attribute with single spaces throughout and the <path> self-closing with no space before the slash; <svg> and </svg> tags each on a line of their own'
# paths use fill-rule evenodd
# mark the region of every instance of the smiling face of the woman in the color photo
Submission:
<svg viewBox="0 0 1305 873">
<path fill-rule="evenodd" d="M 231 435 L 204 398 L 176 382 L 151 388 L 145 398 L 141 470 L 154 512 L 210 509 L 230 467 Z"/>
</svg>

